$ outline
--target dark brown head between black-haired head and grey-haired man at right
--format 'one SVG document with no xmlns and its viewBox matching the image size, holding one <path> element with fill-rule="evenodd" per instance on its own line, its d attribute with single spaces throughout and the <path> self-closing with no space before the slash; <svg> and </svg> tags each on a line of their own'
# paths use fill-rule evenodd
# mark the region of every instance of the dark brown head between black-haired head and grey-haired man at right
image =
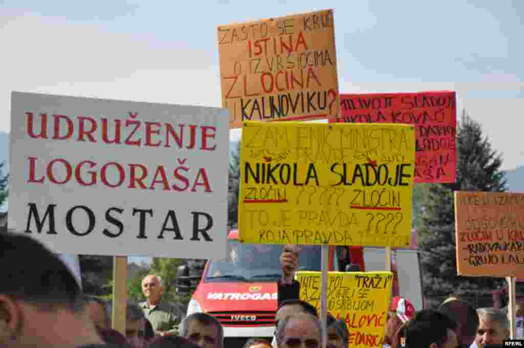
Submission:
<svg viewBox="0 0 524 348">
<path fill-rule="evenodd" d="M 457 323 L 457 340 L 459 345 L 468 348 L 473 341 L 478 328 L 478 316 L 470 303 L 456 297 L 450 297 L 442 302 L 437 309 Z"/>
</svg>

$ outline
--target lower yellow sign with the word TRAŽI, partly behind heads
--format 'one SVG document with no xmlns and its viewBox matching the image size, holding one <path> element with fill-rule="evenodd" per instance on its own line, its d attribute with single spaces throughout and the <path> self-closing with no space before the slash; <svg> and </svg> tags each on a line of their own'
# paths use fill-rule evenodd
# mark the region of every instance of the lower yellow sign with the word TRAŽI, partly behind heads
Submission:
<svg viewBox="0 0 524 348">
<path fill-rule="evenodd" d="M 321 273 L 296 273 L 300 299 L 320 310 Z M 382 346 L 391 297 L 391 272 L 329 272 L 328 313 L 344 319 L 349 345 Z"/>
</svg>

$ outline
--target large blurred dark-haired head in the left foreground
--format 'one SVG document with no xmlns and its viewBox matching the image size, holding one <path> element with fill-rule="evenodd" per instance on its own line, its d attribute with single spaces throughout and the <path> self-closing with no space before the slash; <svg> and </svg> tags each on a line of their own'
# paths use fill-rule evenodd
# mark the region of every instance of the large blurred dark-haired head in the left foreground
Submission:
<svg viewBox="0 0 524 348">
<path fill-rule="evenodd" d="M 0 346 L 102 343 L 68 267 L 40 242 L 0 233 Z M 60 328 L 60 330 L 57 330 Z"/>
</svg>

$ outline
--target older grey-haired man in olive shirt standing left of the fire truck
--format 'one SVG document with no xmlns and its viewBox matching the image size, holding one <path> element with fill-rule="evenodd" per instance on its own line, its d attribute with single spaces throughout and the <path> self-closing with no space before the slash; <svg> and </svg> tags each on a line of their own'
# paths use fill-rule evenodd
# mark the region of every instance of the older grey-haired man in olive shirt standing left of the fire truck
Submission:
<svg viewBox="0 0 524 348">
<path fill-rule="evenodd" d="M 184 317 L 184 313 L 172 304 L 161 302 L 163 295 L 162 279 L 150 274 L 142 280 L 142 292 L 146 301 L 138 305 L 143 309 L 146 318 L 151 322 L 155 335 L 178 334 L 178 324 Z"/>
</svg>

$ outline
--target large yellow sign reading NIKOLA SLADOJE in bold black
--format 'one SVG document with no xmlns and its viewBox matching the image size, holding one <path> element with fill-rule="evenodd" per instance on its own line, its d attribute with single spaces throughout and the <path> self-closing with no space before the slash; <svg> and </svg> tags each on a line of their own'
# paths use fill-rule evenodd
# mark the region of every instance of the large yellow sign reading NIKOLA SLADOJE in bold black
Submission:
<svg viewBox="0 0 524 348">
<path fill-rule="evenodd" d="M 413 129 L 403 124 L 245 122 L 239 240 L 409 246 Z"/>
</svg>

